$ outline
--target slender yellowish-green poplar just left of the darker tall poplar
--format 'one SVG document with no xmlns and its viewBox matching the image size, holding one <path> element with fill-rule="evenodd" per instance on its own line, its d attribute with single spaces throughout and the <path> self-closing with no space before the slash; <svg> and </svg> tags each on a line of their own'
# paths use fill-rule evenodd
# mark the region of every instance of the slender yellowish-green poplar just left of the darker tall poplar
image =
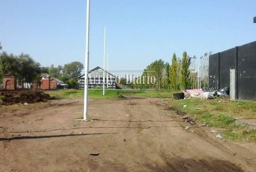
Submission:
<svg viewBox="0 0 256 172">
<path fill-rule="evenodd" d="M 176 54 L 173 53 L 172 56 L 172 65 L 171 65 L 171 71 L 170 71 L 170 81 L 171 81 L 171 88 L 177 89 L 177 82 L 178 82 L 178 61 Z"/>
</svg>

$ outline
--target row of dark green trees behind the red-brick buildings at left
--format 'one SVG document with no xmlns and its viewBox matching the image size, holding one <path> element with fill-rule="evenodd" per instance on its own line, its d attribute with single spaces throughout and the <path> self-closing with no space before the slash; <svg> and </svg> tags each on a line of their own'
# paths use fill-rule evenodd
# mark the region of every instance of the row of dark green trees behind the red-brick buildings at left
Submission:
<svg viewBox="0 0 256 172">
<path fill-rule="evenodd" d="M 0 44 L 0 50 L 2 49 Z M 70 88 L 77 88 L 77 77 L 81 75 L 83 64 L 71 62 L 62 66 L 42 67 L 29 54 L 14 55 L 0 52 L 0 83 L 2 75 L 15 75 L 19 85 L 24 83 L 37 83 L 40 85 L 41 75 L 49 74 L 52 78 L 58 78 L 67 83 Z"/>
</svg>

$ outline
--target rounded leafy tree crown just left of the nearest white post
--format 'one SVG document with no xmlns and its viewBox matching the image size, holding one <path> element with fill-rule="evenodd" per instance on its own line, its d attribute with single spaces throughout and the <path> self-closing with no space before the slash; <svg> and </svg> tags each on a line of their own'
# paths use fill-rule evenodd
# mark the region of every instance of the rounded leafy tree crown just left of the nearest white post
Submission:
<svg viewBox="0 0 256 172">
<path fill-rule="evenodd" d="M 81 62 L 71 62 L 65 64 L 63 67 L 63 76 L 76 80 L 77 77 L 81 75 L 83 68 L 84 66 Z"/>
</svg>

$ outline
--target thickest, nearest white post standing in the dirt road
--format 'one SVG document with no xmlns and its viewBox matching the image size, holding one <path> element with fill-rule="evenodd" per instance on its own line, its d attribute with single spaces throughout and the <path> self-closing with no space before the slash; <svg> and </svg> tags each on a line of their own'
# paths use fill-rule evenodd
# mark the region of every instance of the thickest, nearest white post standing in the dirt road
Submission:
<svg viewBox="0 0 256 172">
<path fill-rule="evenodd" d="M 89 70 L 89 20 L 90 20 L 90 0 L 87 0 L 86 10 L 86 41 L 85 41 L 85 64 L 84 64 L 84 120 L 87 119 L 88 111 L 88 83 L 87 75 Z"/>
</svg>

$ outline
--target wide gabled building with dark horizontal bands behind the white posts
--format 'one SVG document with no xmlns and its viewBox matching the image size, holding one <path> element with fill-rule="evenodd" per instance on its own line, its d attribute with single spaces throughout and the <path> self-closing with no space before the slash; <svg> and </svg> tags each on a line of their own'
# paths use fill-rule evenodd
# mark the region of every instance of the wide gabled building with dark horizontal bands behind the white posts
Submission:
<svg viewBox="0 0 256 172">
<path fill-rule="evenodd" d="M 103 87 L 103 76 L 108 74 L 108 88 L 113 88 L 116 89 L 116 77 L 114 75 L 112 75 L 109 72 L 105 71 L 104 74 L 104 70 L 97 66 L 93 69 L 91 69 L 88 72 L 88 78 L 89 78 L 89 82 L 88 82 L 88 87 L 89 88 L 93 88 L 93 87 Z M 84 89 L 84 74 L 80 75 L 78 77 L 78 82 L 79 82 L 79 89 Z M 107 77 L 105 77 L 105 83 L 107 83 Z M 106 84 L 107 87 L 107 84 Z"/>
</svg>

